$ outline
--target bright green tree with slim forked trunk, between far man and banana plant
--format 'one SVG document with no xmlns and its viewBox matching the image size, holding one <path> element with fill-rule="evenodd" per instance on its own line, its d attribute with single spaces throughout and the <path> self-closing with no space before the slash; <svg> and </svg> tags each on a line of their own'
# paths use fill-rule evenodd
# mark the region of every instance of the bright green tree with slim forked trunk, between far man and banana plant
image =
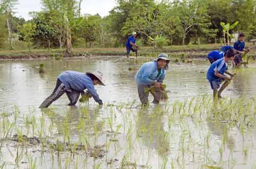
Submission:
<svg viewBox="0 0 256 169">
<path fill-rule="evenodd" d="M 179 27 L 182 34 L 182 44 L 185 44 L 185 38 L 188 33 L 195 30 L 196 26 L 201 29 L 207 29 L 209 18 L 207 14 L 206 0 L 184 0 L 173 2 L 173 14 L 180 19 Z"/>
</svg>

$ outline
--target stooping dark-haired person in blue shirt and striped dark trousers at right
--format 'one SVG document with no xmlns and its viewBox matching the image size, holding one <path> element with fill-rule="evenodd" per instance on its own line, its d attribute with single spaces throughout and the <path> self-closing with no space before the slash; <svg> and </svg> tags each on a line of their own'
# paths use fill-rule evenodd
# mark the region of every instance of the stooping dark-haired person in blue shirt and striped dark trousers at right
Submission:
<svg viewBox="0 0 256 169">
<path fill-rule="evenodd" d="M 212 90 L 214 90 L 214 99 L 221 98 L 222 91 L 228 86 L 230 80 L 234 76 L 232 73 L 229 73 L 227 71 L 227 62 L 232 61 L 234 58 L 234 55 L 236 55 L 236 51 L 234 49 L 229 49 L 225 52 L 224 58 L 219 59 L 212 63 L 207 71 L 206 78 L 210 82 L 210 87 Z M 228 74 L 230 77 L 224 75 L 224 73 Z M 220 84 L 223 82 L 221 89 Z M 217 95 L 218 94 L 218 95 Z"/>
</svg>

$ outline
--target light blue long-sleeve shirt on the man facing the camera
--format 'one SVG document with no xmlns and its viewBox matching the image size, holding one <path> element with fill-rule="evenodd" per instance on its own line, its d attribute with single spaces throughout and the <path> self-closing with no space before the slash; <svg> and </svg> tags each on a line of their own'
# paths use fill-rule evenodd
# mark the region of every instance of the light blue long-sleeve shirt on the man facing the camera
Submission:
<svg viewBox="0 0 256 169">
<path fill-rule="evenodd" d="M 136 73 L 136 82 L 141 85 L 152 85 L 154 81 L 163 82 L 166 70 L 161 69 L 158 75 L 157 62 L 144 63 Z"/>
</svg>

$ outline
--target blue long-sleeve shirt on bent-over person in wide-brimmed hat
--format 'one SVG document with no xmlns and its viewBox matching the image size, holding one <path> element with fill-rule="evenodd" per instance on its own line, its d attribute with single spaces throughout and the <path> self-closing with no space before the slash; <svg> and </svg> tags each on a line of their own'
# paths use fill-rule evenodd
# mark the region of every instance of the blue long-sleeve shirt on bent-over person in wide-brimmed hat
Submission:
<svg viewBox="0 0 256 169">
<path fill-rule="evenodd" d="M 93 80 L 86 73 L 65 71 L 59 74 L 58 79 L 64 83 L 68 92 L 76 90 L 81 94 L 84 94 L 84 90 L 87 89 L 92 94 L 94 100 L 97 103 L 102 104 L 102 100 L 99 98 L 99 95 L 94 88 Z"/>
</svg>

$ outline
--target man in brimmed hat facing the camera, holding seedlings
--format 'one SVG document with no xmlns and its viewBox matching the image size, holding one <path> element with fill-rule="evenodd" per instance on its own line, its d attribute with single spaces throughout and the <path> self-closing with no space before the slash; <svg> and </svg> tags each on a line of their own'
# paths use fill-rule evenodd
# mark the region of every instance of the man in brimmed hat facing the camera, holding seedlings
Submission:
<svg viewBox="0 0 256 169">
<path fill-rule="evenodd" d="M 156 87 L 156 91 L 152 93 L 154 104 L 158 104 L 163 99 L 164 92 L 161 90 L 161 83 L 165 78 L 168 70 L 169 58 L 166 53 L 158 54 L 158 57 L 153 62 L 144 63 L 136 73 L 136 82 L 140 101 L 143 105 L 148 104 L 148 89 L 152 86 Z"/>
</svg>

